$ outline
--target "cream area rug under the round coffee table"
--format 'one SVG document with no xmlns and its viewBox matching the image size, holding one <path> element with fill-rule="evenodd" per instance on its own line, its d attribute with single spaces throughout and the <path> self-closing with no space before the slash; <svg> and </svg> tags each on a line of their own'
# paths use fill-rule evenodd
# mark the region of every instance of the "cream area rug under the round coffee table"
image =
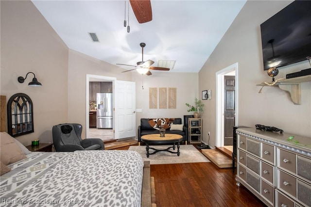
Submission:
<svg viewBox="0 0 311 207">
<path fill-rule="evenodd" d="M 152 146 L 155 149 L 166 149 L 169 145 Z M 177 147 L 176 147 L 177 148 Z M 193 145 L 180 145 L 180 156 L 169 152 L 157 152 L 147 158 L 146 146 L 130 146 L 128 150 L 137 151 L 144 161 L 150 161 L 150 164 L 175 164 L 175 163 L 191 163 L 191 162 L 210 162 L 201 152 Z M 173 150 L 173 149 L 171 149 Z M 154 150 L 150 149 L 152 153 Z M 177 149 L 175 149 L 177 151 Z"/>
</svg>

